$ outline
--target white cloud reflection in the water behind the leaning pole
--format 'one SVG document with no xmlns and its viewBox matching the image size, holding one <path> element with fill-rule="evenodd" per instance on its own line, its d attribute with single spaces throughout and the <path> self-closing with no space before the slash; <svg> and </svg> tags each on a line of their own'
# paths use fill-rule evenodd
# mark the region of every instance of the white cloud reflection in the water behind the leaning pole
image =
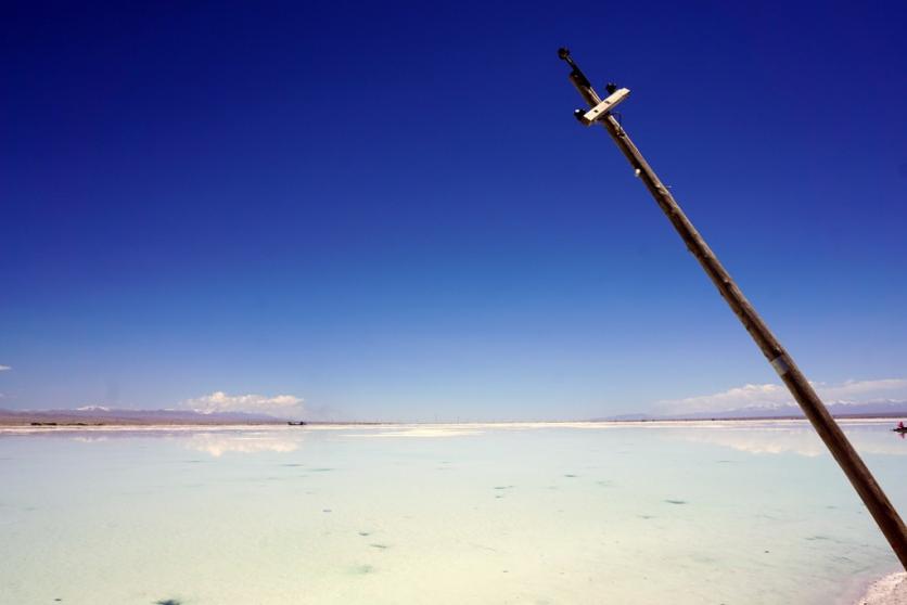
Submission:
<svg viewBox="0 0 907 605">
<path fill-rule="evenodd" d="M 883 427 L 841 423 L 847 438 L 861 454 L 907 455 L 907 445 L 898 439 L 880 439 Z M 680 429 L 676 434 L 685 441 L 724 446 L 755 454 L 794 453 L 815 458 L 826 455 L 828 449 L 805 421 L 796 425 L 769 425 L 768 423 L 716 423 Z"/>
</svg>

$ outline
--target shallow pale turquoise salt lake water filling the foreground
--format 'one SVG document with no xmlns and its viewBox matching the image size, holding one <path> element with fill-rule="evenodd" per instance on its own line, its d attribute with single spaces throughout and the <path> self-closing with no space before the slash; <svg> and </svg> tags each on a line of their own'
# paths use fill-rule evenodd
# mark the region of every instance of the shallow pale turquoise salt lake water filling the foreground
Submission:
<svg viewBox="0 0 907 605">
<path fill-rule="evenodd" d="M 844 428 L 907 511 L 907 440 Z M 897 561 L 803 422 L 0 430 L 10 604 L 852 603 Z"/>
</svg>

